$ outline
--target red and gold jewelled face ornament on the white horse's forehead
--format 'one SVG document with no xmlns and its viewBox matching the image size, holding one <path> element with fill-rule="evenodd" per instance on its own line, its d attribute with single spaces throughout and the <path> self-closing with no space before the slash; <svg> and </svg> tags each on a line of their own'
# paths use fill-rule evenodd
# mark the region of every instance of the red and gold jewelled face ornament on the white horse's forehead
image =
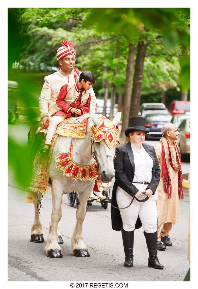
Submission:
<svg viewBox="0 0 198 289">
<path fill-rule="evenodd" d="M 104 139 L 106 145 L 111 150 L 119 142 L 119 128 L 111 120 L 106 117 L 100 117 L 100 123 L 95 127 L 92 125 L 90 131 L 93 134 L 93 140 L 100 142 Z"/>
</svg>

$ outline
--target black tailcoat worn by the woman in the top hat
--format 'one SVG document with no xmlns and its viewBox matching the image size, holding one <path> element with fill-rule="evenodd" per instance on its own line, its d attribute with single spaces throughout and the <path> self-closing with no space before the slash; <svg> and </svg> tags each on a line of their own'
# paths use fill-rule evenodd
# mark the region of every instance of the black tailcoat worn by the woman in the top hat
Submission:
<svg viewBox="0 0 198 289">
<path fill-rule="evenodd" d="M 154 147 L 151 145 L 143 144 L 143 148 L 153 160 L 153 169 L 152 169 L 152 179 L 147 186 L 147 189 L 153 191 L 155 193 L 157 186 L 160 181 L 160 167 L 157 160 L 157 155 L 155 153 Z M 133 151 L 131 148 L 130 141 L 126 145 L 122 145 L 115 150 L 115 160 L 114 160 L 114 169 L 115 169 L 115 183 L 112 190 L 111 203 L 118 207 L 116 201 L 116 189 L 117 186 L 120 186 L 123 190 L 125 190 L 132 197 L 139 191 L 136 186 L 132 184 L 134 178 L 135 164 Z M 112 229 L 116 231 L 121 230 L 122 226 L 122 218 L 120 216 L 119 209 L 115 209 L 111 206 L 111 225 Z M 139 229 L 142 226 L 140 218 L 136 221 L 135 228 Z"/>
</svg>

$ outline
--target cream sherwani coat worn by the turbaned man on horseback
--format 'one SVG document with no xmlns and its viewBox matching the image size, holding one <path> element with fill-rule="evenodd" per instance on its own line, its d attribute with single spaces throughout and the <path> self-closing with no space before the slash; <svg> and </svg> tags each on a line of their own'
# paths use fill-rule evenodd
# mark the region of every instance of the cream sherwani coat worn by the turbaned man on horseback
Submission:
<svg viewBox="0 0 198 289">
<path fill-rule="evenodd" d="M 41 90 L 41 96 L 39 97 L 41 118 L 44 116 L 49 116 L 51 118 L 53 113 L 60 109 L 56 104 L 56 99 L 61 87 L 65 84 L 74 84 L 78 79 L 79 77 L 74 69 L 69 75 L 65 75 L 65 73 L 60 69 L 53 74 L 45 76 L 45 82 Z M 95 113 L 96 97 L 94 90 L 91 88 L 88 92 L 91 95 L 90 111 L 92 110 Z"/>
</svg>

